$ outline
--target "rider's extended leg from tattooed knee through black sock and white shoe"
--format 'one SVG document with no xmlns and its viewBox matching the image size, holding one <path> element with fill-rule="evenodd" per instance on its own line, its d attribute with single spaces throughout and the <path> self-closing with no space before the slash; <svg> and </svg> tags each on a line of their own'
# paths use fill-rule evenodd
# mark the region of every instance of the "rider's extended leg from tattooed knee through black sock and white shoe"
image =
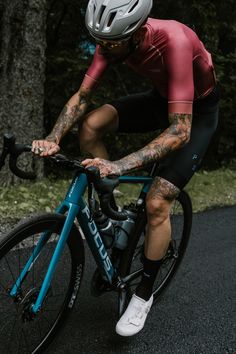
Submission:
<svg viewBox="0 0 236 354">
<path fill-rule="evenodd" d="M 170 208 L 178 193 L 179 189 L 173 184 L 156 177 L 147 195 L 148 228 L 143 274 L 126 311 L 117 322 L 116 332 L 122 336 L 138 333 L 152 306 L 153 284 L 171 239 Z"/>
</svg>

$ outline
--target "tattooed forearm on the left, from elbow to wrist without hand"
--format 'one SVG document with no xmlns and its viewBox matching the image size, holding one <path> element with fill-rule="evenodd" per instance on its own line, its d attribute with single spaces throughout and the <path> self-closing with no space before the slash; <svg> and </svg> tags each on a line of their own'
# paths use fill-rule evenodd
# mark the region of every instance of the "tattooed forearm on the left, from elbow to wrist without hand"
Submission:
<svg viewBox="0 0 236 354">
<path fill-rule="evenodd" d="M 63 108 L 52 132 L 46 139 L 58 144 L 61 138 L 68 133 L 73 125 L 84 115 L 88 100 L 89 97 L 86 93 L 82 91 L 76 93 Z"/>
</svg>

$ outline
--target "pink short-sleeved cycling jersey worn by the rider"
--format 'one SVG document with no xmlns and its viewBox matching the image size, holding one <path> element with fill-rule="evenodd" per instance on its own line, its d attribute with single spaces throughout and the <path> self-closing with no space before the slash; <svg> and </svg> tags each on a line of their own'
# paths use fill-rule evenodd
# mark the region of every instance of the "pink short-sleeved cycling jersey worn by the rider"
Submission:
<svg viewBox="0 0 236 354">
<path fill-rule="evenodd" d="M 210 53 L 192 29 L 177 21 L 149 18 L 143 28 L 143 41 L 125 63 L 168 99 L 169 113 L 191 114 L 193 100 L 207 96 L 215 86 Z M 97 46 L 82 85 L 96 87 L 111 63 Z"/>
</svg>

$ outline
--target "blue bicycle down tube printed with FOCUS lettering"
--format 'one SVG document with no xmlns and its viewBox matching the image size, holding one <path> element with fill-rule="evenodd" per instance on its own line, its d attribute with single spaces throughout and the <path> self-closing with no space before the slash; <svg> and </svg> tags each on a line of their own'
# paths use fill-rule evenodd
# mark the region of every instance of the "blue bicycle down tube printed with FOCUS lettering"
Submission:
<svg viewBox="0 0 236 354">
<path fill-rule="evenodd" d="M 106 276 L 107 280 L 111 284 L 115 275 L 115 270 L 107 254 L 97 226 L 91 218 L 90 210 L 83 199 L 80 205 L 81 208 L 78 214 L 79 224 L 99 270 Z"/>
</svg>

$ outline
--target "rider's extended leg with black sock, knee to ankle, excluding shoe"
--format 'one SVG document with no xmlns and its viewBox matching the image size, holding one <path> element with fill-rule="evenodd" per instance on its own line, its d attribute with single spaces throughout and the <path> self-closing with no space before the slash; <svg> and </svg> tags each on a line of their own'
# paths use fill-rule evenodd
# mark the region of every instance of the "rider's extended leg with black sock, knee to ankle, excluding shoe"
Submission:
<svg viewBox="0 0 236 354">
<path fill-rule="evenodd" d="M 170 240 L 170 209 L 179 189 L 167 180 L 156 177 L 147 195 L 147 233 L 145 237 L 145 255 L 143 261 L 143 274 L 136 294 L 148 300 L 161 260 L 165 256 Z"/>
</svg>

